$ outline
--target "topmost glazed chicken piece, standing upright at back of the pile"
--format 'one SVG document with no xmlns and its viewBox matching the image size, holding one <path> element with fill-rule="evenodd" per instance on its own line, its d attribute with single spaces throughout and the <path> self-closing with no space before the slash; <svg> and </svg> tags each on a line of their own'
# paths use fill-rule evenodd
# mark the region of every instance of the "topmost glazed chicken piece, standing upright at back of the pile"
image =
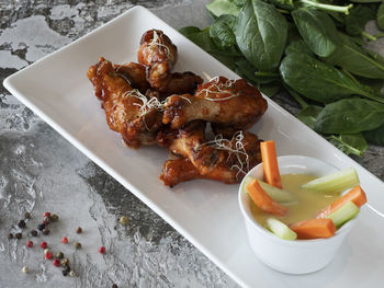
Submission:
<svg viewBox="0 0 384 288">
<path fill-rule="evenodd" d="M 177 47 L 162 31 L 149 30 L 142 36 L 137 59 L 148 67 L 147 81 L 151 88 L 166 89 L 177 57 Z"/>
</svg>

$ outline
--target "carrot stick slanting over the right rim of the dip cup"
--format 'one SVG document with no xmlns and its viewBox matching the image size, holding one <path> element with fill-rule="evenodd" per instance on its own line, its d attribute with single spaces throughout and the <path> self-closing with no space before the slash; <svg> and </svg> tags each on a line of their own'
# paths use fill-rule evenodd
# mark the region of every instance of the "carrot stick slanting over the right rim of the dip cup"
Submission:
<svg viewBox="0 0 384 288">
<path fill-rule="evenodd" d="M 359 208 L 366 203 L 365 193 L 360 185 L 355 186 L 354 188 L 349 191 L 347 194 L 342 195 L 336 201 L 329 204 L 326 208 L 324 208 L 317 214 L 316 218 L 318 219 L 326 218 L 328 215 L 335 212 L 337 209 L 339 209 L 341 206 L 343 206 L 348 201 L 353 201 Z"/>
</svg>

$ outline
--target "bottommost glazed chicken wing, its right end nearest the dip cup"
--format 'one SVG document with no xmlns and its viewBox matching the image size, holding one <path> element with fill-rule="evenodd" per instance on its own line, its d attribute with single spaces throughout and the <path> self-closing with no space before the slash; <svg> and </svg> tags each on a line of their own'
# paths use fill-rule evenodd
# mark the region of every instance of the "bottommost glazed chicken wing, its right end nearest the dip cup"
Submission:
<svg viewBox="0 0 384 288">
<path fill-rule="evenodd" d="M 244 133 L 245 153 L 230 153 L 228 150 L 218 150 L 221 154 L 215 168 L 206 174 L 201 174 L 195 165 L 187 158 L 168 160 L 162 165 L 160 180 L 167 186 L 174 186 L 181 182 L 194 178 L 208 178 L 226 184 L 239 183 L 245 173 L 261 162 L 259 139 L 255 134 Z M 236 146 L 236 140 L 231 141 Z M 247 161 L 248 155 L 248 161 Z M 241 169 L 240 169 L 241 168 Z"/>
</svg>

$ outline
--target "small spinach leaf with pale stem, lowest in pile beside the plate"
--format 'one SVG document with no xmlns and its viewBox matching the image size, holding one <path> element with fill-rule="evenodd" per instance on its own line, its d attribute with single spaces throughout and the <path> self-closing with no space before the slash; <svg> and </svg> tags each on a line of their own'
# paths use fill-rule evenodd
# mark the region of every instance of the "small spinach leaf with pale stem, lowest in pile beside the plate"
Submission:
<svg viewBox="0 0 384 288">
<path fill-rule="evenodd" d="M 361 133 L 331 135 L 328 140 L 346 154 L 363 155 L 368 143 Z"/>
</svg>

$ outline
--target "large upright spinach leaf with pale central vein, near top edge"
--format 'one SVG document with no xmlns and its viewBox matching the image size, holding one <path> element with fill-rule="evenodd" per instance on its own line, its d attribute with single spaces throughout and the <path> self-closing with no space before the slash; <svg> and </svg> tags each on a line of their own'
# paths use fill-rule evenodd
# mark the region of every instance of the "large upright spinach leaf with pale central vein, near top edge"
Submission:
<svg viewBox="0 0 384 288">
<path fill-rule="evenodd" d="M 248 0 L 237 18 L 235 35 L 242 55 L 258 70 L 271 71 L 279 67 L 287 23 L 272 4 Z"/>
</svg>

